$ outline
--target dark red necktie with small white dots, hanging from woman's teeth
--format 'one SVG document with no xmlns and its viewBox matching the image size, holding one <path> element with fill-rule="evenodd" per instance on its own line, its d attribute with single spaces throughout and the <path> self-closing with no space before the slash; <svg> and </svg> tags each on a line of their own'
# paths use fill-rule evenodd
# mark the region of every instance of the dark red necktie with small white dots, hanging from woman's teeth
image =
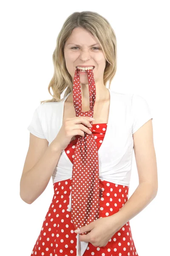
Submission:
<svg viewBox="0 0 170 256">
<path fill-rule="evenodd" d="M 90 97 L 90 110 L 82 112 L 82 95 L 79 69 L 75 71 L 73 83 L 73 102 L 76 116 L 94 115 L 96 86 L 92 70 L 86 70 Z M 92 123 L 92 122 L 90 122 Z M 84 125 L 84 124 L 83 124 Z M 86 125 L 85 125 L 86 126 Z M 88 128 L 91 130 L 91 128 Z M 72 186 L 71 186 L 71 218 L 75 229 L 90 224 L 99 218 L 99 160 L 98 148 L 94 135 L 85 133 L 79 136 L 75 147 Z M 82 233 L 87 234 L 88 232 Z"/>
</svg>

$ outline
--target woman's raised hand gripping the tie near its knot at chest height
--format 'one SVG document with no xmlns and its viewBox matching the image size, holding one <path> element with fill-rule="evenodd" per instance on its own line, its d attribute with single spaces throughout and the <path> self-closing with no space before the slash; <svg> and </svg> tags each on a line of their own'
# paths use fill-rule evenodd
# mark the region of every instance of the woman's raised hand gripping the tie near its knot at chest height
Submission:
<svg viewBox="0 0 170 256">
<path fill-rule="evenodd" d="M 84 137 L 85 132 L 91 134 L 91 131 L 87 127 L 92 127 L 90 122 L 93 122 L 93 120 L 89 116 L 77 116 L 65 119 L 56 138 L 53 140 L 53 144 L 56 144 L 57 147 L 59 146 L 59 149 L 62 151 L 75 139 L 74 136 L 80 135 Z"/>
</svg>

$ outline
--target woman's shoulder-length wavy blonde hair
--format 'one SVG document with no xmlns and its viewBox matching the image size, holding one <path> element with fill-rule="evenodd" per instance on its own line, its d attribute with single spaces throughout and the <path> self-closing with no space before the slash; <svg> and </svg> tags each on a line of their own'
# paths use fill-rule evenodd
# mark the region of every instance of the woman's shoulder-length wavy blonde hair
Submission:
<svg viewBox="0 0 170 256">
<path fill-rule="evenodd" d="M 52 55 L 54 75 L 48 85 L 48 92 L 53 98 L 41 101 L 40 103 L 60 102 L 60 96 L 66 88 L 64 97 L 73 90 L 72 78 L 65 65 L 64 46 L 65 42 L 70 37 L 72 30 L 76 27 L 86 29 L 94 35 L 97 41 L 99 41 L 106 58 L 103 82 L 106 86 L 107 81 L 109 81 L 110 88 L 111 81 L 116 73 L 117 67 L 116 35 L 108 20 L 98 13 L 91 11 L 74 12 L 65 20 L 65 23 L 57 37 L 56 48 Z M 50 88 L 54 95 L 51 94 Z"/>
</svg>

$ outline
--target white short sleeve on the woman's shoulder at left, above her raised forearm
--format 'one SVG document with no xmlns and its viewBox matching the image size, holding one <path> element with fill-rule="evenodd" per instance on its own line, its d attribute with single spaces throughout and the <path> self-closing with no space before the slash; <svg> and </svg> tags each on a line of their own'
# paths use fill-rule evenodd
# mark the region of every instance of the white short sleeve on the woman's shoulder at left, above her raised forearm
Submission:
<svg viewBox="0 0 170 256">
<path fill-rule="evenodd" d="M 34 111 L 31 123 L 29 124 L 27 129 L 31 132 L 31 134 L 35 135 L 36 137 L 46 139 L 41 126 L 40 105 Z"/>
</svg>

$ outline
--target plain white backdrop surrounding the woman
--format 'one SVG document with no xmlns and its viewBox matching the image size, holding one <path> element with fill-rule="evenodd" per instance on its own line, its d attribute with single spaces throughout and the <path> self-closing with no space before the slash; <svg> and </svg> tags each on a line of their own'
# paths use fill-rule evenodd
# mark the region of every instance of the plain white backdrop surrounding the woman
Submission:
<svg viewBox="0 0 170 256">
<path fill-rule="evenodd" d="M 33 204 L 20 198 L 20 177 L 29 145 L 27 127 L 40 100 L 51 99 L 47 88 L 53 75 L 52 53 L 62 24 L 71 13 L 87 10 L 104 16 L 116 33 L 118 64 L 111 90 L 143 96 L 153 113 L 159 190 L 130 220 L 130 226 L 139 256 L 169 255 L 168 1 L 15 0 L 0 5 L 0 255 L 31 256 L 51 204 L 52 180 Z M 129 198 L 137 186 L 133 152 Z"/>
</svg>

